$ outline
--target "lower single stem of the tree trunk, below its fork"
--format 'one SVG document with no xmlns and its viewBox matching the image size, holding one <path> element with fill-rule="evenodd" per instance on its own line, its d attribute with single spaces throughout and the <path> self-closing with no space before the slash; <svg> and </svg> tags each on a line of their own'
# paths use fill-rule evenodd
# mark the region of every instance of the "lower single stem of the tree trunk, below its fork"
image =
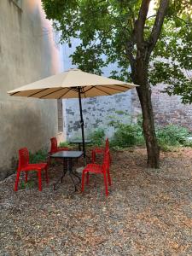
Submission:
<svg viewBox="0 0 192 256">
<path fill-rule="evenodd" d="M 147 65 L 145 65 L 147 67 Z M 143 113 L 143 133 L 148 151 L 148 167 L 160 167 L 160 147 L 154 130 L 154 113 L 151 102 L 151 90 L 148 84 L 148 71 L 143 68 L 144 65 L 137 66 L 134 76 L 134 83 L 140 85 L 137 87 L 137 94 Z"/>
</svg>

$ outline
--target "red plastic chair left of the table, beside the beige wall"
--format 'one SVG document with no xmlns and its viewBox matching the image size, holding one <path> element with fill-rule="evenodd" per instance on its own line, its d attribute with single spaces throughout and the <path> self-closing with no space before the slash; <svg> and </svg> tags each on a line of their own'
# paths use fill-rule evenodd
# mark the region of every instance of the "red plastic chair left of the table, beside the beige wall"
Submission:
<svg viewBox="0 0 192 256">
<path fill-rule="evenodd" d="M 15 191 L 18 189 L 18 183 L 20 179 L 20 172 L 26 172 L 26 179 L 27 182 L 27 174 L 29 171 L 36 171 L 38 172 L 38 190 L 42 190 L 42 180 L 41 180 L 41 171 L 45 171 L 46 182 L 48 183 L 48 164 L 47 163 L 38 163 L 38 164 L 29 164 L 29 152 L 27 148 L 20 148 L 19 150 L 19 166 L 17 169 L 17 175 L 15 179 Z"/>
</svg>

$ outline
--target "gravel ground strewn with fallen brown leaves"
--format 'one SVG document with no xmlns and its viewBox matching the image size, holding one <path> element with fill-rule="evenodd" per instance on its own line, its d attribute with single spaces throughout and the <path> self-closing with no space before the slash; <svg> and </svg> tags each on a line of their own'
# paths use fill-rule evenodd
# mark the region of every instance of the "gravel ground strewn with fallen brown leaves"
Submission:
<svg viewBox="0 0 192 256">
<path fill-rule="evenodd" d="M 192 255 L 192 149 L 161 154 L 160 170 L 146 168 L 146 151 L 112 154 L 113 185 L 102 177 L 84 194 L 61 165 L 49 168 L 49 186 L 13 191 L 15 174 L 0 183 L 0 255 Z M 79 163 L 80 164 L 80 163 Z"/>
</svg>

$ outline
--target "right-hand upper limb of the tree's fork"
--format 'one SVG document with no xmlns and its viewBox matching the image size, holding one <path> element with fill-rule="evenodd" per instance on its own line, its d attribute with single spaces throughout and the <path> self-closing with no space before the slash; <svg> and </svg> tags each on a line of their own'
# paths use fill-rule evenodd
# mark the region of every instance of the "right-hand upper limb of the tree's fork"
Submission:
<svg viewBox="0 0 192 256">
<path fill-rule="evenodd" d="M 160 0 L 160 7 L 158 9 L 156 19 L 154 20 L 154 26 L 152 32 L 148 39 L 148 55 L 154 49 L 155 44 L 160 36 L 161 27 L 163 26 L 163 21 L 166 16 L 166 9 L 168 7 L 169 0 Z"/>
</svg>

